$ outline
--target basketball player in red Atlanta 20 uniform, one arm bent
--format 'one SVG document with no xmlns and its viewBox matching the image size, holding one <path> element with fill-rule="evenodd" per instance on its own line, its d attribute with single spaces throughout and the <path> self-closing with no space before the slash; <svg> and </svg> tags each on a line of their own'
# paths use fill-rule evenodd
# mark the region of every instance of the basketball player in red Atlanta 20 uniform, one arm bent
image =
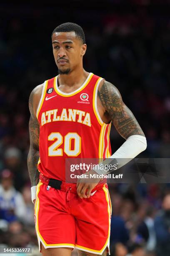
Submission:
<svg viewBox="0 0 170 256">
<path fill-rule="evenodd" d="M 43 256 L 70 256 L 73 248 L 80 256 L 106 256 L 109 248 L 107 184 L 83 179 L 77 186 L 66 183 L 65 159 L 132 159 L 146 148 L 144 133 L 117 88 L 83 69 L 86 48 L 77 24 L 55 28 L 52 49 L 59 75 L 30 94 L 28 170 Z M 111 122 L 126 140 L 112 156 Z"/>
</svg>

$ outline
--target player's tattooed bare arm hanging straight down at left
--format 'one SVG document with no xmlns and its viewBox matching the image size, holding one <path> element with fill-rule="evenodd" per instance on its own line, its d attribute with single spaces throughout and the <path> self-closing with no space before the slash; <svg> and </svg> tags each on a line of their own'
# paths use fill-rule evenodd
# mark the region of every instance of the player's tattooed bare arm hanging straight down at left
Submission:
<svg viewBox="0 0 170 256">
<path fill-rule="evenodd" d="M 29 98 L 29 109 L 30 109 L 30 121 L 29 121 L 29 133 L 30 133 L 30 149 L 28 152 L 28 172 L 30 175 L 31 187 L 34 187 L 39 180 L 39 172 L 37 170 L 37 162 L 39 159 L 39 134 L 40 125 L 36 117 L 37 106 L 40 101 L 42 93 L 42 85 L 38 85 L 32 90 Z"/>
</svg>

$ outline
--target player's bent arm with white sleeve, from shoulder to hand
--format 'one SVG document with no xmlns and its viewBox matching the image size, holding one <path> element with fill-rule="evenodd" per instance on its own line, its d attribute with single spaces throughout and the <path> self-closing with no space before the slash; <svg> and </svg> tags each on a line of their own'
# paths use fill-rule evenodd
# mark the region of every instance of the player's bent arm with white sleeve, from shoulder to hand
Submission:
<svg viewBox="0 0 170 256">
<path fill-rule="evenodd" d="M 110 161 L 111 159 L 118 160 L 117 166 L 120 168 L 146 149 L 147 143 L 145 134 L 133 113 L 122 101 L 119 90 L 117 90 L 113 84 L 107 81 L 100 84 L 98 97 L 105 110 L 104 115 L 107 117 L 108 123 L 112 121 L 118 133 L 126 140 L 122 146 L 110 156 Z M 105 164 L 105 161 L 102 163 Z M 100 169 L 90 171 L 91 174 L 95 174 L 96 172 L 102 174 Z M 107 173 L 103 171 L 103 174 Z M 83 179 L 79 180 L 79 182 L 77 182 L 77 194 L 79 197 L 90 197 L 92 189 L 99 181 L 100 179 L 95 179 L 94 182 L 87 182 L 87 180 L 85 181 Z M 86 192 L 87 194 L 85 194 Z"/>
</svg>

